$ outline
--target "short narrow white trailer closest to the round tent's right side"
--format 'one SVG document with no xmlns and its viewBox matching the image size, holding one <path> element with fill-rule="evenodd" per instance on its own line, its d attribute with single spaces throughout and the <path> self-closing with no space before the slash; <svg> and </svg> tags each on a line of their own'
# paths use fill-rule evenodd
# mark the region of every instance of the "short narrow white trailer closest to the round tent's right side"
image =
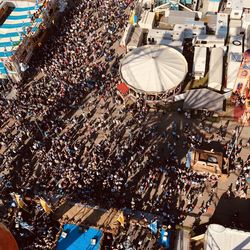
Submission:
<svg viewBox="0 0 250 250">
<path fill-rule="evenodd" d="M 204 77 L 206 71 L 207 48 L 195 47 L 193 60 L 193 75 L 196 80 Z"/>
</svg>

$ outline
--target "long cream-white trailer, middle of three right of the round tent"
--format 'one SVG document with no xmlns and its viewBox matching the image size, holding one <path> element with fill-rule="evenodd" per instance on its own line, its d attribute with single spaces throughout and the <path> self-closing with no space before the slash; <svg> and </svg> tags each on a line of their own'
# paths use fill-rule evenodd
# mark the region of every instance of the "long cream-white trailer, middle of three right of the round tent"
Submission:
<svg viewBox="0 0 250 250">
<path fill-rule="evenodd" d="M 211 50 L 209 62 L 208 88 L 221 91 L 223 84 L 223 57 L 222 48 L 213 48 Z"/>
</svg>

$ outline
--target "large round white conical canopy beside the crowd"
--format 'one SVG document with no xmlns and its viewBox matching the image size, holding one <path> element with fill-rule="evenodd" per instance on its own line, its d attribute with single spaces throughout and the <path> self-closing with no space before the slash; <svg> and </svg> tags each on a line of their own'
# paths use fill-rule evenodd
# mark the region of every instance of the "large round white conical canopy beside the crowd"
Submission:
<svg viewBox="0 0 250 250">
<path fill-rule="evenodd" d="M 184 56 L 164 45 L 146 45 L 132 50 L 121 63 L 121 76 L 143 92 L 167 92 L 176 88 L 188 71 Z"/>
</svg>

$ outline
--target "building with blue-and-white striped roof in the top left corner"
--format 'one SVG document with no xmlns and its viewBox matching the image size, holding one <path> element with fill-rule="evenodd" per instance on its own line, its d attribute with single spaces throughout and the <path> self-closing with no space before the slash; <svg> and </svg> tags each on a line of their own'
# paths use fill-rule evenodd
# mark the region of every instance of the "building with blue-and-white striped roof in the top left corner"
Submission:
<svg viewBox="0 0 250 250">
<path fill-rule="evenodd" d="M 2 1 L 0 26 L 0 78 L 21 81 L 35 48 L 60 11 L 55 0 Z"/>
</svg>

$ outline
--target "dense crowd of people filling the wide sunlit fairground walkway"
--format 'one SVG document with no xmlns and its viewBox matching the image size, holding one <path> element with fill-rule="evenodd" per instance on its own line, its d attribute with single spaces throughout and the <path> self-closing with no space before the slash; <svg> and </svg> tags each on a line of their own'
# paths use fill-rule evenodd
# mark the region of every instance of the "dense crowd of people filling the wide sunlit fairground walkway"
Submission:
<svg viewBox="0 0 250 250">
<path fill-rule="evenodd" d="M 129 19 L 127 7 L 133 3 L 71 1 L 43 58 L 29 68 L 33 73 L 38 67 L 44 77 L 16 86 L 13 99 L 1 95 L 0 185 L 6 209 L 0 212 L 22 249 L 52 249 L 59 232 L 40 197 L 54 209 L 68 199 L 148 211 L 163 215 L 170 228 L 182 224 L 209 185 L 201 213 L 211 204 L 216 175 L 187 169 L 177 155 L 180 138 L 185 151 L 207 142 L 206 136 L 188 124 L 182 131 L 173 124 L 160 132 L 157 123 L 149 123 L 143 99 L 127 108 L 116 94 L 115 44 Z M 21 214 L 14 193 L 26 203 Z"/>
</svg>

